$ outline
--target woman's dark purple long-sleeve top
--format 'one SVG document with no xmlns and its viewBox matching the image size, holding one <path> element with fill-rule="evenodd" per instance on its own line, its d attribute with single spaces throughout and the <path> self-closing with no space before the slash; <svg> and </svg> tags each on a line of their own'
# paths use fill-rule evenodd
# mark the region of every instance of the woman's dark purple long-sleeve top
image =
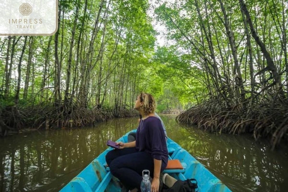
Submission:
<svg viewBox="0 0 288 192">
<path fill-rule="evenodd" d="M 150 153 L 154 159 L 162 160 L 161 171 L 166 168 L 168 150 L 160 119 L 154 116 L 141 119 L 136 132 L 136 149 Z"/>
</svg>

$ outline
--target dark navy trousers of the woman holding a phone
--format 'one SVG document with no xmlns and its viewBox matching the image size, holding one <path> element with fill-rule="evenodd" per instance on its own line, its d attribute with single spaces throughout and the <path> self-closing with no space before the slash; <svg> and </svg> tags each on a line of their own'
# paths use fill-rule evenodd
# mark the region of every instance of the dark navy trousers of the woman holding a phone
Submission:
<svg viewBox="0 0 288 192">
<path fill-rule="evenodd" d="M 106 155 L 106 162 L 112 175 L 117 177 L 128 189 L 140 190 L 142 171 L 147 169 L 153 178 L 154 160 L 151 154 L 139 152 L 135 147 L 115 149 Z"/>
</svg>

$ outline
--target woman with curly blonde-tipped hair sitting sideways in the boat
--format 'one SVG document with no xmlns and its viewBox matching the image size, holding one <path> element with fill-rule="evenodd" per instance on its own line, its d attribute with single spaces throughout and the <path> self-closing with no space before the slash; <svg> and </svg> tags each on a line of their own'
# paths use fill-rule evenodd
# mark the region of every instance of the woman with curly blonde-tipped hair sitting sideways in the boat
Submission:
<svg viewBox="0 0 288 192">
<path fill-rule="evenodd" d="M 120 150 L 109 151 L 106 162 L 111 173 L 132 192 L 141 191 L 142 171 L 148 169 L 151 191 L 158 192 L 160 172 L 168 162 L 168 150 L 161 121 L 154 115 L 156 102 L 151 94 L 141 93 L 134 109 L 142 116 L 136 132 L 136 141 L 117 143 Z"/>
</svg>

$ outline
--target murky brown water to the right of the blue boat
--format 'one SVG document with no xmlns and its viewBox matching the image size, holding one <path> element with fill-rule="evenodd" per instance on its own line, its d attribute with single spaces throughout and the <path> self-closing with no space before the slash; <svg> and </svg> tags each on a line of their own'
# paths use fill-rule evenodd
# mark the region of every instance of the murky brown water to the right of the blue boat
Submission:
<svg viewBox="0 0 288 192">
<path fill-rule="evenodd" d="M 255 143 L 250 135 L 208 134 L 169 122 L 168 136 L 232 191 L 287 191 L 287 147 L 270 151 L 267 142 Z"/>
</svg>

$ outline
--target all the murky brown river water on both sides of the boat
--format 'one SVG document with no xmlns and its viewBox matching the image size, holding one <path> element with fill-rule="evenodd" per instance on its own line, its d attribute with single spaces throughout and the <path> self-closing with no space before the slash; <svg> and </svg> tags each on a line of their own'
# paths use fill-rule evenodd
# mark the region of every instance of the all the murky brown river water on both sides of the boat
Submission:
<svg viewBox="0 0 288 192">
<path fill-rule="evenodd" d="M 161 117 L 168 136 L 232 191 L 288 191 L 286 147 L 270 151 L 249 135 L 209 134 L 177 124 L 175 115 Z M 58 191 L 107 148 L 107 139 L 136 127 L 136 118 L 123 118 L 0 138 L 0 191 Z"/>
</svg>

